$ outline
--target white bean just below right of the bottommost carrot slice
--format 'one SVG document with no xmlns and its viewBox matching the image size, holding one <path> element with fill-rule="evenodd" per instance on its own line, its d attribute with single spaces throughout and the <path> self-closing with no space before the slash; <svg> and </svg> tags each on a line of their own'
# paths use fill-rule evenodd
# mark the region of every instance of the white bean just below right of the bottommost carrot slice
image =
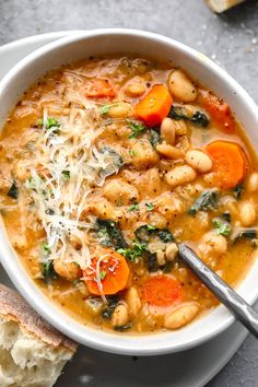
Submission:
<svg viewBox="0 0 258 387">
<path fill-rule="evenodd" d="M 181 305 L 165 315 L 164 327 L 167 329 L 178 329 L 190 322 L 198 314 L 198 310 L 199 305 L 197 303 Z"/>
</svg>

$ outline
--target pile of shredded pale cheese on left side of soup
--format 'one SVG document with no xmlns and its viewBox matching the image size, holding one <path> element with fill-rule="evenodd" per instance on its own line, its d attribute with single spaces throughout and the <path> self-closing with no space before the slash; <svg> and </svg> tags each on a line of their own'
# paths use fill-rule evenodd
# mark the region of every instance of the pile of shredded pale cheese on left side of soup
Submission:
<svg viewBox="0 0 258 387">
<path fill-rule="evenodd" d="M 98 108 L 71 107 L 70 115 L 43 128 L 35 143 L 31 177 L 23 191 L 34 206 L 31 211 L 46 232 L 49 248 L 46 259 L 75 261 L 82 269 L 91 266 L 87 233 L 94 216 L 82 216 L 94 186 L 103 186 L 106 176 L 118 172 L 116 155 L 97 150 L 96 139 L 104 127 L 97 125 Z M 78 248 L 80 246 L 80 248 Z"/>
</svg>

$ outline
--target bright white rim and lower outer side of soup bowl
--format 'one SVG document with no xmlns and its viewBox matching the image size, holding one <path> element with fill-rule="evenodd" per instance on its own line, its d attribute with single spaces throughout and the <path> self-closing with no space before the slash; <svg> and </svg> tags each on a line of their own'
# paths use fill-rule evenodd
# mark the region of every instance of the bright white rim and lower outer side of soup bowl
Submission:
<svg viewBox="0 0 258 387">
<path fill-rule="evenodd" d="M 110 30 L 95 30 L 84 33 L 72 33 L 72 36 L 60 38 L 54 43 L 50 43 L 33 54 L 22 59 L 16 66 L 14 66 L 8 74 L 0 82 L 0 101 L 1 95 L 9 83 L 19 74 L 19 72 L 26 68 L 30 63 L 39 59 L 42 56 L 49 54 L 56 48 L 60 48 L 70 45 L 74 42 L 83 40 L 91 36 L 107 36 L 107 35 L 124 35 L 124 36 L 137 36 L 151 39 L 156 43 L 166 45 L 178 51 L 186 54 L 199 62 L 200 67 L 206 68 L 214 77 L 225 82 L 227 89 L 231 87 L 238 95 L 242 95 L 243 105 L 250 112 L 258 125 L 257 106 L 245 90 L 224 70 L 222 70 L 216 63 L 207 58 L 204 55 L 165 36 L 161 36 L 154 33 L 148 33 L 137 30 L 124 30 L 124 28 L 110 28 Z M 192 322 L 186 328 L 175 332 L 164 332 L 150 336 L 121 336 L 104 332 L 92 327 L 83 327 L 74 319 L 66 315 L 58 309 L 48 298 L 38 290 L 34 282 L 30 279 L 25 269 L 17 261 L 14 250 L 11 248 L 5 231 L 1 226 L 0 245 L 1 245 L 1 262 L 7 270 L 9 277 L 17 288 L 20 293 L 27 300 L 27 302 L 51 325 L 62 331 L 68 337 L 81 342 L 85 345 L 104 350 L 107 352 L 118 354 L 133 354 L 133 355 L 152 355 L 179 352 L 189 348 L 199 345 L 223 330 L 225 330 L 234 321 L 234 317 L 225 309 L 224 306 L 219 306 L 209 315 Z M 258 265 L 254 263 L 246 279 L 238 286 L 238 293 L 245 297 L 249 303 L 254 303 L 258 297 L 258 289 L 253 289 L 256 283 L 256 270 Z M 250 285 L 251 284 L 251 285 Z M 198 333 L 189 337 L 192 326 L 197 327 Z M 183 335 L 181 335 L 183 332 Z"/>
</svg>

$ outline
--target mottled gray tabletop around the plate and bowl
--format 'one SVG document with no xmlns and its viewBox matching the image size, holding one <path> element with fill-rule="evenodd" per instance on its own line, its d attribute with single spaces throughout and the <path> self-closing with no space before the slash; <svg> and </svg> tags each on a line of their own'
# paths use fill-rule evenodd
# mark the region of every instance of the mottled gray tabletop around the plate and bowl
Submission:
<svg viewBox="0 0 258 387">
<path fill-rule="evenodd" d="M 202 0 L 0 0 L 0 45 L 52 31 L 101 27 L 151 31 L 203 51 L 258 103 L 258 0 L 220 16 Z M 208 386 L 257 387 L 257 349 L 248 336 Z"/>
</svg>

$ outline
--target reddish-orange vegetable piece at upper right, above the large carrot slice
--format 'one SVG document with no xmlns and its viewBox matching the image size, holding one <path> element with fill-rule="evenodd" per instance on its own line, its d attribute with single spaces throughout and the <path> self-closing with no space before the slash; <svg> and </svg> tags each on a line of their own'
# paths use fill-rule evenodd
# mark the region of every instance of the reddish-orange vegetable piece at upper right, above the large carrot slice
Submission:
<svg viewBox="0 0 258 387">
<path fill-rule="evenodd" d="M 231 112 L 231 107 L 218 96 L 211 93 L 202 92 L 202 105 L 220 126 L 220 129 L 225 133 L 234 133 L 235 119 Z"/>
</svg>

